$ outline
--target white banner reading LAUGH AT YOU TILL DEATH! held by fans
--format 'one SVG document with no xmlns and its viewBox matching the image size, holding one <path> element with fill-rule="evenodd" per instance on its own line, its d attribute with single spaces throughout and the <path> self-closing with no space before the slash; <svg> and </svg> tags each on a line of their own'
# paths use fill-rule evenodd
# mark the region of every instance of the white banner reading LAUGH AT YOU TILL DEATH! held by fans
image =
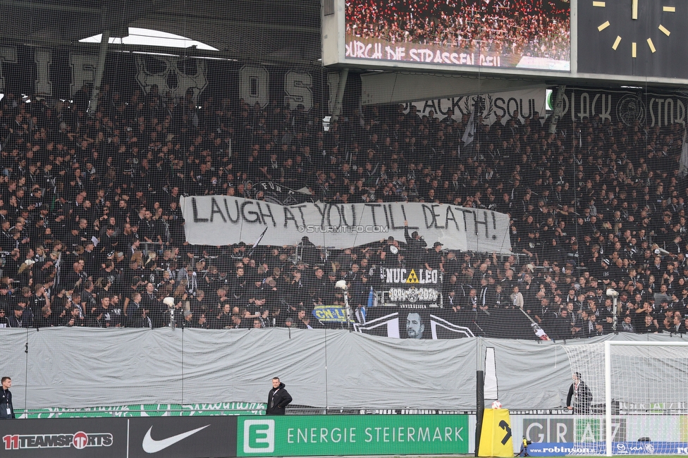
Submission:
<svg viewBox="0 0 688 458">
<path fill-rule="evenodd" d="M 241 197 L 182 197 L 188 242 L 197 245 L 315 245 L 349 248 L 390 235 L 404 240 L 404 221 L 428 247 L 510 253 L 509 218 L 503 213 L 441 204 L 298 204 L 282 206 Z"/>
</svg>

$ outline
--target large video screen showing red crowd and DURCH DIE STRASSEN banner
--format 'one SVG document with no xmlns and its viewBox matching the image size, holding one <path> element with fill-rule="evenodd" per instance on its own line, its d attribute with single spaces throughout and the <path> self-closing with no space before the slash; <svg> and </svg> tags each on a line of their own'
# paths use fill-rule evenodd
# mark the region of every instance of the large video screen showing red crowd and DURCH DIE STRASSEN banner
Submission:
<svg viewBox="0 0 688 458">
<path fill-rule="evenodd" d="M 346 58 L 570 71 L 568 0 L 348 0 Z"/>
</svg>

